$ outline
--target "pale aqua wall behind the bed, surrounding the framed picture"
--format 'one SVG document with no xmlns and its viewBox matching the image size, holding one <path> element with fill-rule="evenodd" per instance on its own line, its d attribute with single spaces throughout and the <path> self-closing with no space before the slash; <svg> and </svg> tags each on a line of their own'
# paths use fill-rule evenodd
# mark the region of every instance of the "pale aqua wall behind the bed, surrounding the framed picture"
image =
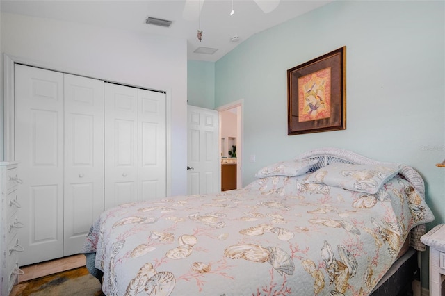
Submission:
<svg viewBox="0 0 445 296">
<path fill-rule="evenodd" d="M 335 1 L 258 33 L 215 65 L 215 106 L 244 100 L 244 184 L 316 147 L 411 165 L 445 222 L 445 2 Z M 287 135 L 286 70 L 346 46 L 347 129 Z M 227 88 L 230 85 L 230 88 Z M 428 286 L 423 254 L 423 286 Z"/>
</svg>

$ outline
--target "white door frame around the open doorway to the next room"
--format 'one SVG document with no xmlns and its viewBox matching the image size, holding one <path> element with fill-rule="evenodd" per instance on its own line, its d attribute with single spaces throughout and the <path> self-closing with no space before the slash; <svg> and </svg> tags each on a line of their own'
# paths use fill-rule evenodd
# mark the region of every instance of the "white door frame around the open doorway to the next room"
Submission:
<svg viewBox="0 0 445 296">
<path fill-rule="evenodd" d="M 216 108 L 219 117 L 219 136 L 218 136 L 218 156 L 221 155 L 221 135 L 222 126 L 221 124 L 221 112 L 227 111 L 233 108 L 238 108 L 236 113 L 236 189 L 243 188 L 243 110 L 244 110 L 244 100 L 239 99 L 238 101 L 233 101 L 232 103 L 220 106 Z M 218 171 L 221 172 L 221 162 L 218 163 Z M 221 179 L 220 179 L 221 183 Z M 219 184 L 221 188 L 221 184 Z"/>
</svg>

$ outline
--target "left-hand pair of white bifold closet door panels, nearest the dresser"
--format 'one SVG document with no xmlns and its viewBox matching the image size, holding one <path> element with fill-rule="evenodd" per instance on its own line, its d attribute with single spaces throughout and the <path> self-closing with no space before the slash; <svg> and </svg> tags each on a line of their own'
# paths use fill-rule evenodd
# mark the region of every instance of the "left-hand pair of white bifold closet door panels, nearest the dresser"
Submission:
<svg viewBox="0 0 445 296">
<path fill-rule="evenodd" d="M 15 65 L 20 265 L 79 253 L 104 208 L 103 81 Z"/>
</svg>

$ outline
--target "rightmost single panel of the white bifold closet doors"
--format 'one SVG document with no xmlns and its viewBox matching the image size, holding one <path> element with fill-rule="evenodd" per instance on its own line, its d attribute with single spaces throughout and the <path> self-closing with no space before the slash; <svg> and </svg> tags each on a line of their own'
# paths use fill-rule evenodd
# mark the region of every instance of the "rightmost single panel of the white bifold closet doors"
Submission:
<svg viewBox="0 0 445 296">
<path fill-rule="evenodd" d="M 166 195 L 165 93 L 138 90 L 138 200 Z"/>
</svg>

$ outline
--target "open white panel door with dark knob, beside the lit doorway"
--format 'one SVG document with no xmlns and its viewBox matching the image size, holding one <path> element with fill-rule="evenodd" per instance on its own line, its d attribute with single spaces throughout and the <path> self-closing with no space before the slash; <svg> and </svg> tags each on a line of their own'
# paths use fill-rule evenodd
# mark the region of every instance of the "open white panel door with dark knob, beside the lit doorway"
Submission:
<svg viewBox="0 0 445 296">
<path fill-rule="evenodd" d="M 187 194 L 218 192 L 218 111 L 187 108 Z"/>
</svg>

